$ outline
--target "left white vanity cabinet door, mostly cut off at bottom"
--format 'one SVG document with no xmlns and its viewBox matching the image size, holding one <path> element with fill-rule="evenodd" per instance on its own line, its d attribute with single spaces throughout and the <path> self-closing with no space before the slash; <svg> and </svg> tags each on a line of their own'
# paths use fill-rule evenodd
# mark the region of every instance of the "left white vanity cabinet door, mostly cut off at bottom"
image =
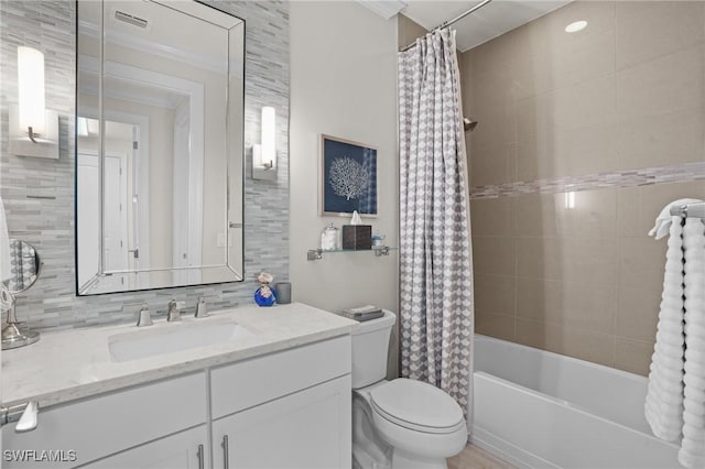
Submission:
<svg viewBox="0 0 705 469">
<path fill-rule="evenodd" d="M 99 459 L 86 469 L 204 469 L 209 468 L 208 432 L 198 426 L 137 448 Z"/>
</svg>

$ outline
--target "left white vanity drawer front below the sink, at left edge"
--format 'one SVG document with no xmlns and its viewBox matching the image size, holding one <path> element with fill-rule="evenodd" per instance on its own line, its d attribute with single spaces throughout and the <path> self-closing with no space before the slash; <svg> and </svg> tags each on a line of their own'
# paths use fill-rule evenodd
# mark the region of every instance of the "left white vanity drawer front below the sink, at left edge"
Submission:
<svg viewBox="0 0 705 469">
<path fill-rule="evenodd" d="M 14 425 L 2 428 L 4 469 L 14 467 L 68 468 L 141 445 L 164 435 L 206 422 L 205 372 L 188 374 L 72 404 L 40 408 L 39 425 L 18 434 Z M 24 462 L 9 461 L 7 450 Z M 37 451 L 36 455 L 26 451 Z M 65 451 L 64 461 L 35 458 L 39 451 Z M 75 458 L 69 451 L 74 451 Z M 74 460 L 72 460 L 74 459 Z"/>
</svg>

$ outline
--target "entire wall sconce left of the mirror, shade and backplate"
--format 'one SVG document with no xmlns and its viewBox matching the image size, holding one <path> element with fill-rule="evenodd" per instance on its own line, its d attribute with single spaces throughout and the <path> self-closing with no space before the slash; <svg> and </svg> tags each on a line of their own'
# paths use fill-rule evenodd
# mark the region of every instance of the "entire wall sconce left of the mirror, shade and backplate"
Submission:
<svg viewBox="0 0 705 469">
<path fill-rule="evenodd" d="M 9 107 L 11 154 L 58 159 L 58 113 L 44 107 L 44 54 L 18 47 L 18 102 Z"/>
</svg>

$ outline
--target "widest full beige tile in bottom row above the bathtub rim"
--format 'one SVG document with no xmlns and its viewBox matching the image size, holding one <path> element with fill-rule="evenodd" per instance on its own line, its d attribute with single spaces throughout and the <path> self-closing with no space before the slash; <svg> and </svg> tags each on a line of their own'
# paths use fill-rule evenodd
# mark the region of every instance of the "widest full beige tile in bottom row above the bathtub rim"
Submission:
<svg viewBox="0 0 705 469">
<path fill-rule="evenodd" d="M 605 334 L 518 318 L 517 341 L 608 367 L 615 362 L 615 340 Z"/>
</svg>

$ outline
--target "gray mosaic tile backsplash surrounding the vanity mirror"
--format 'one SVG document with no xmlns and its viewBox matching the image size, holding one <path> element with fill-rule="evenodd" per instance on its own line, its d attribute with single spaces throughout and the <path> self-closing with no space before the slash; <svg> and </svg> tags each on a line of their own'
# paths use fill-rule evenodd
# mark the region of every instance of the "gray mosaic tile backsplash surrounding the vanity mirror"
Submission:
<svg viewBox="0 0 705 469">
<path fill-rule="evenodd" d="M 212 2 L 216 3 L 216 2 Z M 282 1 L 217 1 L 246 20 L 245 99 L 245 276 L 240 283 L 109 294 L 75 295 L 75 43 L 76 4 L 72 1 L 0 3 L 0 194 L 10 237 L 34 244 L 44 262 L 37 283 L 19 297 L 20 320 L 37 330 L 86 327 L 131 320 L 142 302 L 158 314 L 174 297 L 187 310 L 205 295 L 214 308 L 249 304 L 256 276 L 265 270 L 289 277 L 289 7 Z M 8 154 L 8 106 L 17 103 L 17 47 L 44 52 L 46 107 L 59 114 L 59 159 Z M 278 113 L 278 178 L 253 181 L 251 146 L 259 142 L 260 109 Z"/>
</svg>

